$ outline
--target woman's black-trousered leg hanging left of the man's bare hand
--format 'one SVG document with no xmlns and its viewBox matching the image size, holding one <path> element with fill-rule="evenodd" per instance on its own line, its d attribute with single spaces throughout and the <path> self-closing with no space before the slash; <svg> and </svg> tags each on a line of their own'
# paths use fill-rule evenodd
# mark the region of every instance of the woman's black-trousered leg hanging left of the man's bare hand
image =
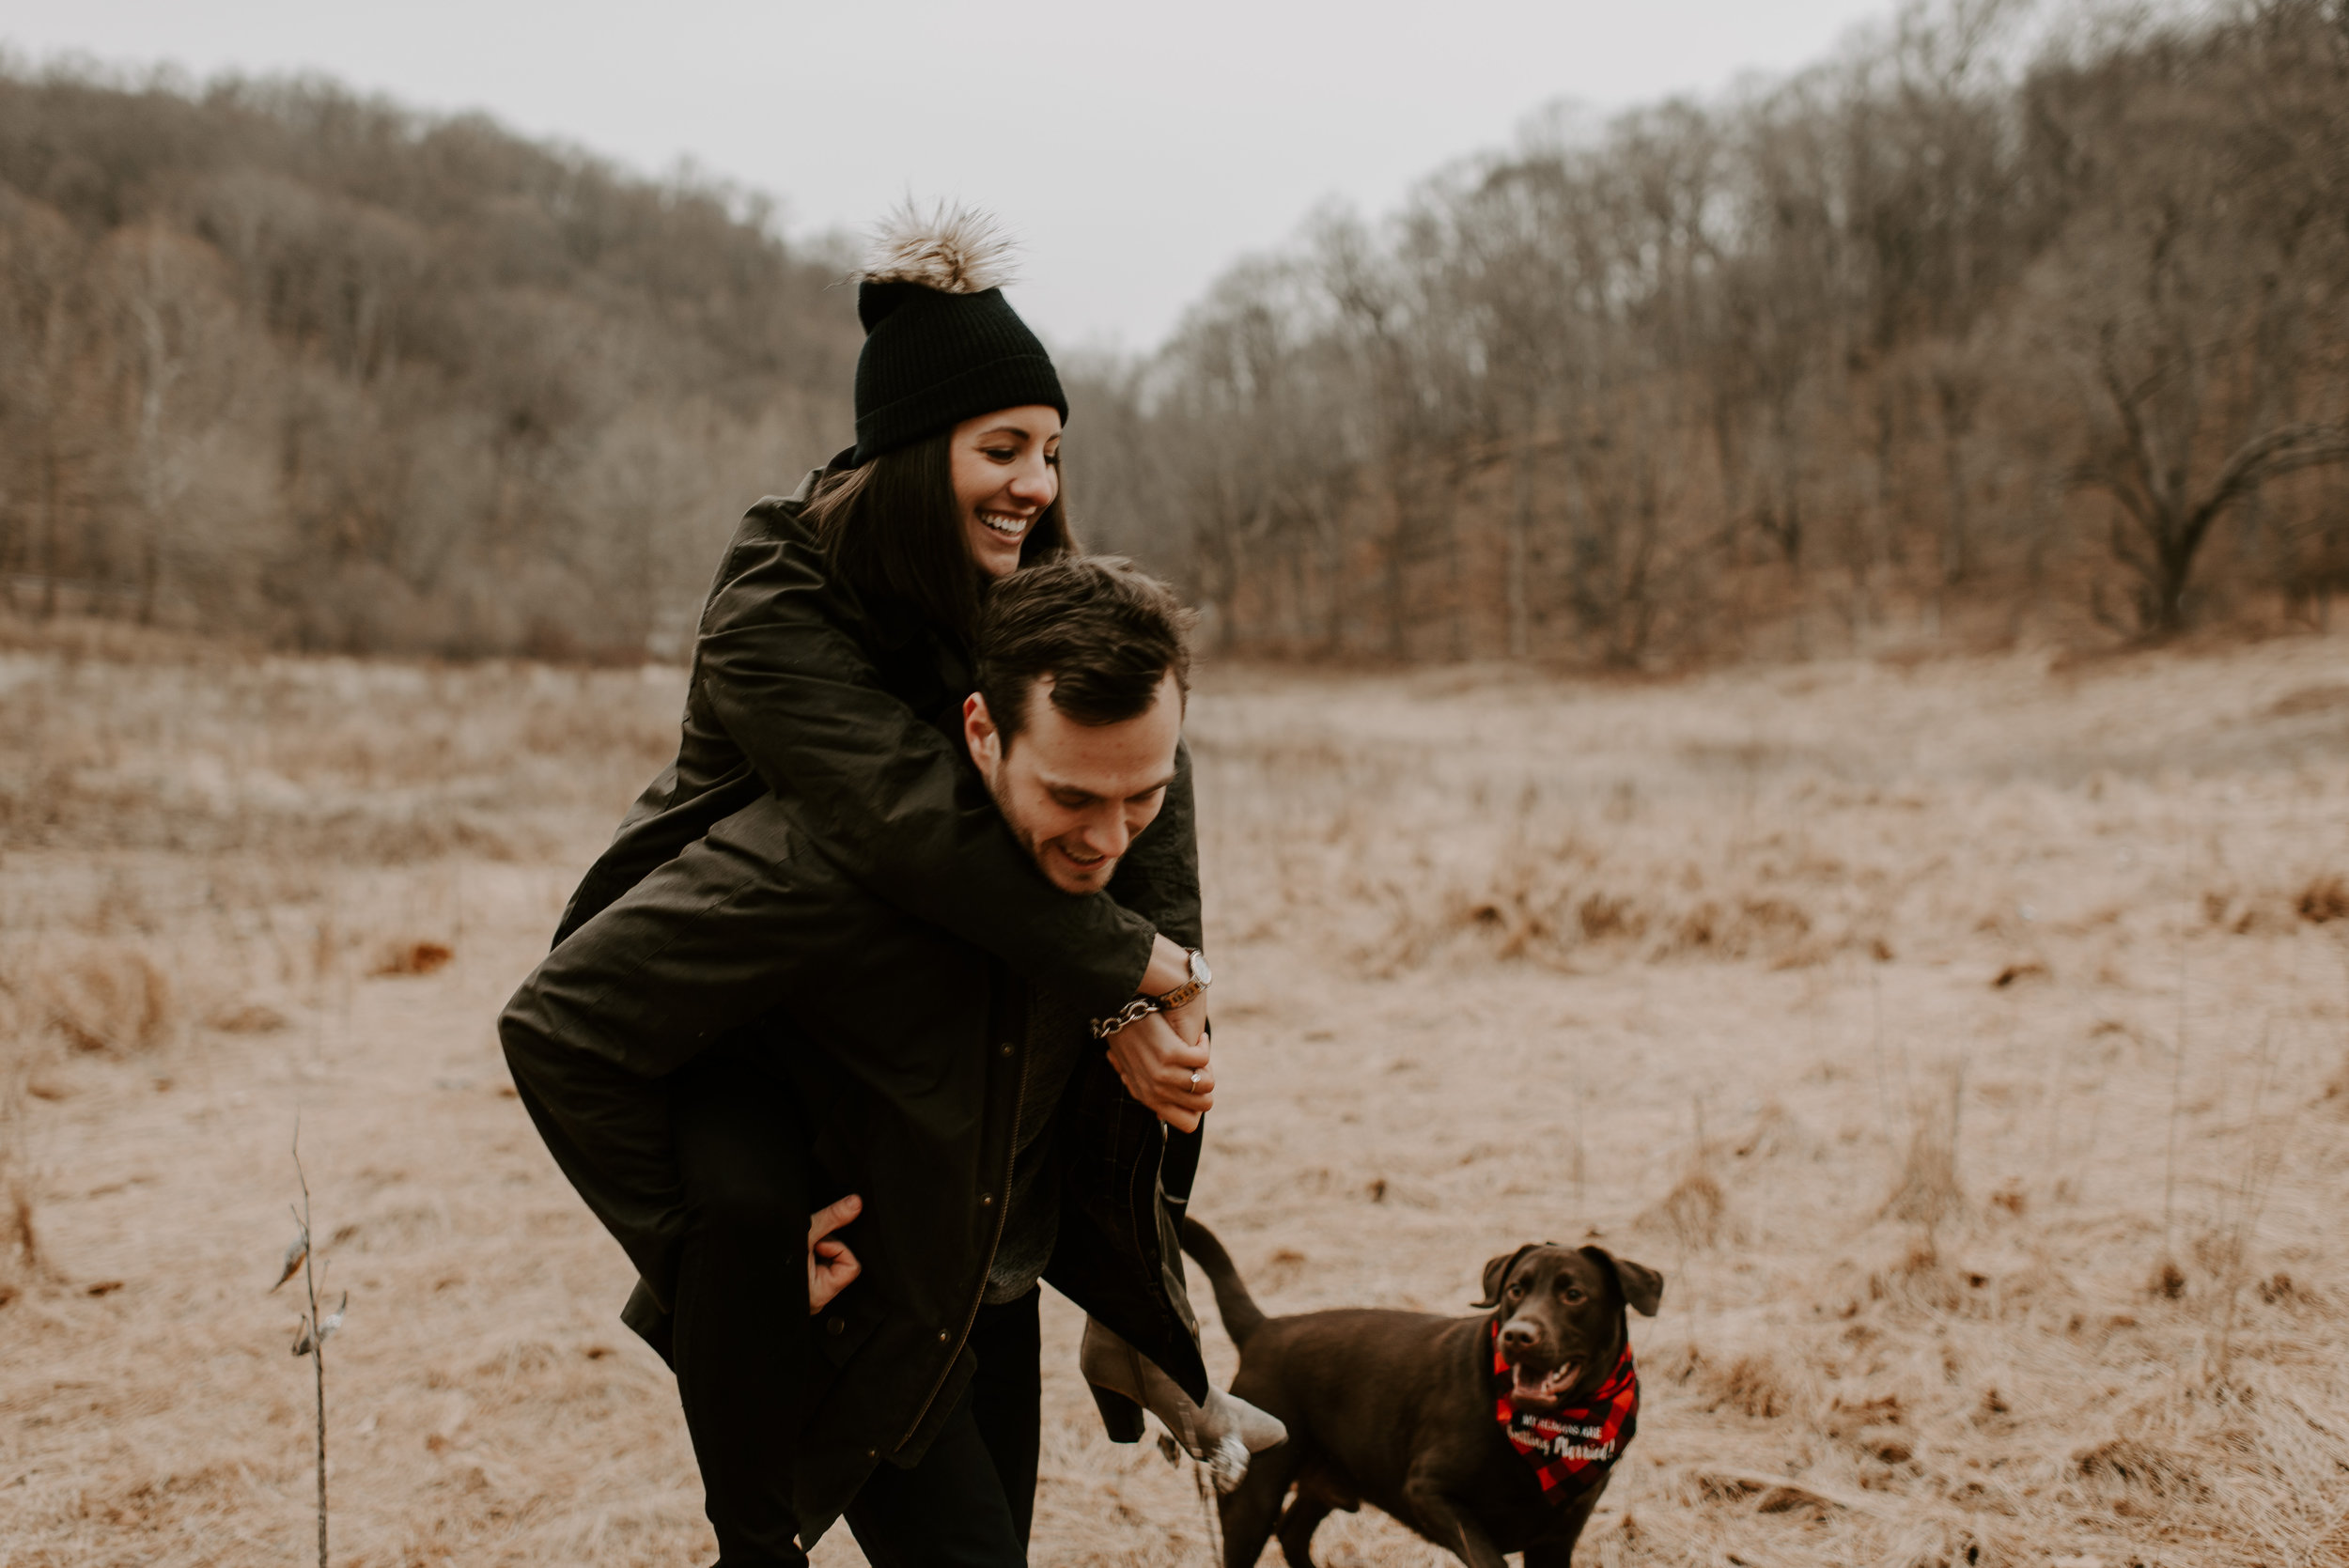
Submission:
<svg viewBox="0 0 2349 1568">
<path fill-rule="evenodd" d="M 808 1174 L 789 1089 L 716 1049 L 672 1082 L 688 1199 L 672 1364 L 721 1568 L 808 1559 L 792 1514 L 806 1378 Z"/>
</svg>

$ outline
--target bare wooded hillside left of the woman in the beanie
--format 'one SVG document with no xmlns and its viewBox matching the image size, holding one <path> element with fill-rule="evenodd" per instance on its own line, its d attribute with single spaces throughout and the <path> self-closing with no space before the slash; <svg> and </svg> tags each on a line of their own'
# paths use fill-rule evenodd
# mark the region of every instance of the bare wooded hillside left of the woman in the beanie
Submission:
<svg viewBox="0 0 2349 1568">
<path fill-rule="evenodd" d="M 0 75 L 0 603 L 674 653 L 850 425 L 846 261 L 770 230 L 322 82 Z"/>
</svg>

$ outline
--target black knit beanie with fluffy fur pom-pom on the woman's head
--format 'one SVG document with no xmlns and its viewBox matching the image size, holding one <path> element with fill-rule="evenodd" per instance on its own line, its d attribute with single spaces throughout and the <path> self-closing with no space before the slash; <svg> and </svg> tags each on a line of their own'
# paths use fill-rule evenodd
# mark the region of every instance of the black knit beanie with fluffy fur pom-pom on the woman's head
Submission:
<svg viewBox="0 0 2349 1568">
<path fill-rule="evenodd" d="M 857 275 L 855 462 L 991 408 L 1069 399 L 1043 343 L 1003 298 L 1010 246 L 972 211 L 900 209 Z"/>
</svg>

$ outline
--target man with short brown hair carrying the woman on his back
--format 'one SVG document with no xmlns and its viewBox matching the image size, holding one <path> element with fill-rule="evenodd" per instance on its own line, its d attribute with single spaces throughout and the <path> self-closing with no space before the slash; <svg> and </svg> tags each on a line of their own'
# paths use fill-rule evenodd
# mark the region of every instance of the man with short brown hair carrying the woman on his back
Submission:
<svg viewBox="0 0 2349 1568">
<path fill-rule="evenodd" d="M 1062 892 L 1106 887 L 1158 817 L 1186 681 L 1182 610 L 1130 568 L 1062 561 L 994 589 L 961 730 L 1012 836 Z M 1064 993 L 991 981 L 996 965 L 975 948 L 853 883 L 827 899 L 853 967 L 921 984 L 886 1019 L 850 974 L 782 1009 L 813 1195 L 864 1199 L 853 1232 L 862 1277 L 815 1338 L 829 1357 L 871 1336 L 839 1376 L 810 1378 L 801 1498 L 839 1455 L 862 1455 L 869 1474 L 848 1521 L 876 1566 L 1022 1561 L 1038 1279 L 1205 1397 L 1191 1376 L 1174 1216 L 1156 1181 L 1163 1124 L 1123 1091 Z M 989 1030 L 972 1042 L 982 1049 L 961 1045 L 951 1021 L 972 991 L 991 993 Z M 942 1350 L 965 1322 L 968 1373 Z M 902 1376 L 914 1366 L 918 1378 Z M 923 1437 L 918 1462 L 871 1467 Z M 803 1528 L 817 1526 L 803 1505 Z"/>
</svg>

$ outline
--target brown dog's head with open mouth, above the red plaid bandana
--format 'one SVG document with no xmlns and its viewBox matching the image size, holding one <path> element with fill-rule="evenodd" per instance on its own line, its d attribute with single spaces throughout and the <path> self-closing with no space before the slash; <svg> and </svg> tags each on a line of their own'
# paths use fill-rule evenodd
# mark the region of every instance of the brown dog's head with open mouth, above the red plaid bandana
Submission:
<svg viewBox="0 0 2349 1568">
<path fill-rule="evenodd" d="M 1501 1326 L 1513 1404 L 1548 1411 L 1588 1394 L 1623 1354 L 1630 1307 L 1656 1317 L 1663 1275 L 1604 1246 L 1532 1242 L 1485 1265 L 1485 1300 Z"/>
</svg>

